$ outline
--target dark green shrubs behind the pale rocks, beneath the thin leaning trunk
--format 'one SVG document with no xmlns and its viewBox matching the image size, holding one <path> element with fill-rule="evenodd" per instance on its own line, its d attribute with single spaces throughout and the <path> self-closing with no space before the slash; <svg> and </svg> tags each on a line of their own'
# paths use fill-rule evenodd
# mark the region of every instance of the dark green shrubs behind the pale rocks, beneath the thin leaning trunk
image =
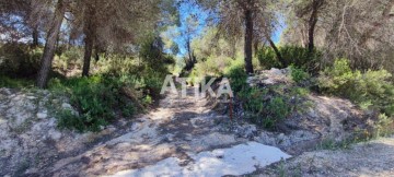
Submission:
<svg viewBox="0 0 394 177">
<path fill-rule="evenodd" d="M 287 68 L 289 66 L 305 68 L 309 72 L 315 72 L 318 69 L 317 64 L 322 58 L 321 51 L 315 50 L 313 54 L 309 54 L 306 48 L 298 46 L 282 46 L 278 49 L 285 60 L 283 63 L 279 61 L 270 47 L 264 47 L 257 51 L 258 61 L 264 69 Z"/>
</svg>

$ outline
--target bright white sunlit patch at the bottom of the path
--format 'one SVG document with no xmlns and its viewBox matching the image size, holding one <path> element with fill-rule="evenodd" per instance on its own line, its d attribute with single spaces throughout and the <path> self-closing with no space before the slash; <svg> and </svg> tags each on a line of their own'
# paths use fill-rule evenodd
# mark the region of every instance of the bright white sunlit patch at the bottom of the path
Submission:
<svg viewBox="0 0 394 177">
<path fill-rule="evenodd" d="M 209 176 L 243 175 L 252 173 L 256 167 L 264 167 L 289 158 L 290 155 L 279 149 L 256 142 L 235 145 L 231 149 L 218 149 L 211 152 L 189 154 L 193 158 L 186 166 L 179 166 L 181 160 L 165 158 L 155 165 L 141 169 L 124 170 L 113 177 L 155 177 L 155 176 Z"/>
</svg>

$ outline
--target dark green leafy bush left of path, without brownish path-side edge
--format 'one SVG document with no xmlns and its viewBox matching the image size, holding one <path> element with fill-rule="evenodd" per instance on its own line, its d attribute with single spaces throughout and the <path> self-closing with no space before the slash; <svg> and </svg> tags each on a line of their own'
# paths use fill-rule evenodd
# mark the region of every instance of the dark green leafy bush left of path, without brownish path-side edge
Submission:
<svg viewBox="0 0 394 177">
<path fill-rule="evenodd" d="M 79 131 L 99 131 L 102 126 L 114 121 L 119 111 L 125 117 L 136 113 L 136 103 L 123 93 L 126 86 L 116 78 L 100 75 L 77 78 L 66 81 L 54 79 L 49 87 L 66 90 L 79 116 L 68 110 L 59 115 L 59 127 Z"/>
</svg>

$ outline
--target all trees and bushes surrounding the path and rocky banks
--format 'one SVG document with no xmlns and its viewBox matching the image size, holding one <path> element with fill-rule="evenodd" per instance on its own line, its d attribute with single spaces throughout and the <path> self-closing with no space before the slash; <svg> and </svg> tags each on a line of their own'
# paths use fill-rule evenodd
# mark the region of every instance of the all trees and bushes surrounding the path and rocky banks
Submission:
<svg viewBox="0 0 394 177">
<path fill-rule="evenodd" d="M 299 109 L 294 97 L 313 91 L 375 111 L 386 131 L 394 117 L 393 7 L 393 0 L 0 0 L 0 86 L 65 95 L 78 113 L 59 111 L 59 126 L 97 131 L 160 98 L 166 74 L 190 84 L 228 76 L 250 120 L 265 128 L 275 129 Z M 291 90 L 246 84 L 248 74 L 271 68 L 289 68 Z"/>
</svg>

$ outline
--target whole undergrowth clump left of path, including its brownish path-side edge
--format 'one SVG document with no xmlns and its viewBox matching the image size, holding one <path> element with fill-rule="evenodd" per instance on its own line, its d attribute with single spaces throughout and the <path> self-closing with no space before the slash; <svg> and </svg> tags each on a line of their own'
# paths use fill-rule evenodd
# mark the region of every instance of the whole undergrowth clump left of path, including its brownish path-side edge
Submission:
<svg viewBox="0 0 394 177">
<path fill-rule="evenodd" d="M 149 80 L 148 80 L 149 81 Z M 137 78 L 95 75 L 68 80 L 53 79 L 49 88 L 65 93 L 78 113 L 58 113 L 59 128 L 99 131 L 118 118 L 132 118 L 152 103 L 157 85 Z M 144 94 L 148 93 L 148 94 Z"/>
</svg>

